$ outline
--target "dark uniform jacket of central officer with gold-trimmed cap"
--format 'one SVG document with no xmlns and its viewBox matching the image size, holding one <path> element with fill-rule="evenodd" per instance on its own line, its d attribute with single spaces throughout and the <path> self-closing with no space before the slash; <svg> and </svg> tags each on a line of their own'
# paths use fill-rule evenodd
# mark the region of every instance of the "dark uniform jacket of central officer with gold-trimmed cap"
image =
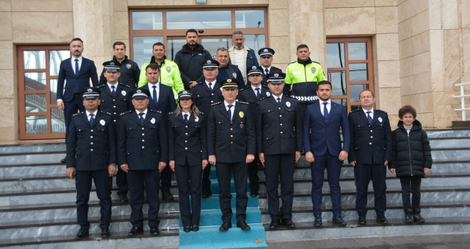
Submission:
<svg viewBox="0 0 470 249">
<path fill-rule="evenodd" d="M 245 161 L 247 154 L 256 153 L 255 124 L 249 106 L 236 102 L 232 109 L 230 120 L 221 102 L 211 107 L 207 119 L 207 154 L 223 163 Z"/>
</svg>

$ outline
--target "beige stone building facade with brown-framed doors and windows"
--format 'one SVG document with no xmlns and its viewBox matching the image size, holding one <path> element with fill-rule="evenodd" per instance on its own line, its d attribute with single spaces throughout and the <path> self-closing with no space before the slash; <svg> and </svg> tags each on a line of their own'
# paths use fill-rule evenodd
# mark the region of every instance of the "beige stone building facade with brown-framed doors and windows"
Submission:
<svg viewBox="0 0 470 249">
<path fill-rule="evenodd" d="M 456 83 L 470 82 L 470 1 L 467 0 L 0 0 L 0 141 L 63 138 L 56 106 L 58 65 L 68 43 L 101 64 L 115 41 L 139 65 L 162 41 L 172 58 L 184 31 L 196 28 L 211 53 L 231 46 L 242 30 L 255 51 L 276 51 L 286 69 L 305 43 L 333 83 L 333 101 L 358 107 L 369 88 L 376 107 L 396 124 L 402 105 L 416 107 L 426 128 L 461 120 Z M 468 94 L 468 93 L 467 93 Z M 466 100 L 470 104 L 469 100 Z"/>
</svg>

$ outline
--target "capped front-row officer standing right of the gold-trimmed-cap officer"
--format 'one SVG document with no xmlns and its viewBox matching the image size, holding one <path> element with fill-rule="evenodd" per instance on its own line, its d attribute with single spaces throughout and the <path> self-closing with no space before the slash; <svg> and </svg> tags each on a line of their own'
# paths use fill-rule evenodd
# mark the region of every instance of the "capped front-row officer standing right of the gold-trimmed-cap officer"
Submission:
<svg viewBox="0 0 470 249">
<path fill-rule="evenodd" d="M 302 120 L 298 100 L 283 95 L 285 77 L 283 73 L 268 74 L 268 87 L 272 97 L 260 100 L 256 109 L 256 150 L 265 169 L 271 229 L 276 229 L 281 224 L 286 228 L 296 227 L 292 222 L 293 171 L 294 164 L 301 158 Z M 281 209 L 278 196 L 279 177 Z"/>
</svg>

